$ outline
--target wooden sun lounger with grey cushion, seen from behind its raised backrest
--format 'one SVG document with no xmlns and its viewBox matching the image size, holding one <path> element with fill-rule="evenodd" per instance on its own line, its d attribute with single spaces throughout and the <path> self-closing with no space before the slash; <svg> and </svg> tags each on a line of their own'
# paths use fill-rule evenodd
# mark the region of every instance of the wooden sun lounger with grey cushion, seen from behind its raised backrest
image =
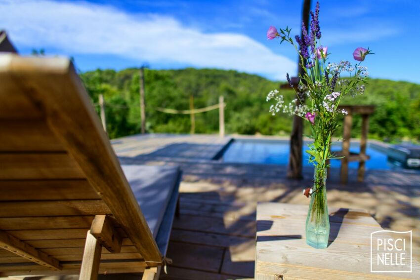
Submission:
<svg viewBox="0 0 420 280">
<path fill-rule="evenodd" d="M 179 178 L 120 165 L 68 59 L 0 55 L 0 277 L 156 278 Z"/>
</svg>

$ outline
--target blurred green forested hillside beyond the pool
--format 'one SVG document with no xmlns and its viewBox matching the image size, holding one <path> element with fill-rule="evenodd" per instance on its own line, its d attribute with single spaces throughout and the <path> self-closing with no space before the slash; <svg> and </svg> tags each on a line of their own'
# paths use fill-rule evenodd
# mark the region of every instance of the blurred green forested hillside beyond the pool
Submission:
<svg viewBox="0 0 420 280">
<path fill-rule="evenodd" d="M 111 138 L 140 132 L 139 70 L 96 70 L 81 73 L 81 78 L 97 104 L 98 95 L 106 102 L 107 130 Z M 189 115 L 170 115 L 156 107 L 189 109 L 216 104 L 223 95 L 226 133 L 284 135 L 292 128 L 287 115 L 271 116 L 267 93 L 279 88 L 274 82 L 256 75 L 216 69 L 145 70 L 147 132 L 189 133 Z M 284 90 L 289 99 L 293 90 Z M 288 100 L 286 100 L 288 102 Z M 370 120 L 370 137 L 385 140 L 420 139 L 420 85 L 405 81 L 369 80 L 365 94 L 348 97 L 342 104 L 372 104 L 376 112 Z M 98 106 L 96 109 L 99 110 Z M 360 118 L 354 119 L 353 137 L 359 137 Z M 196 133 L 217 133 L 217 110 L 196 115 Z M 340 131 L 338 131 L 339 135 Z"/>
</svg>

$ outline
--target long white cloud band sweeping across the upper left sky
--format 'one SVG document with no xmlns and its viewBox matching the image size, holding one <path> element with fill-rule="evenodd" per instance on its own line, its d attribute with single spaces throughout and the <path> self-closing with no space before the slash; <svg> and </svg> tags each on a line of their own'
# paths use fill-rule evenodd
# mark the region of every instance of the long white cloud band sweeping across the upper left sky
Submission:
<svg viewBox="0 0 420 280">
<path fill-rule="evenodd" d="M 281 80 L 296 71 L 294 61 L 245 35 L 203 33 L 162 15 L 51 0 L 0 0 L 0 10 L 0 27 L 18 47 L 235 69 Z"/>
</svg>

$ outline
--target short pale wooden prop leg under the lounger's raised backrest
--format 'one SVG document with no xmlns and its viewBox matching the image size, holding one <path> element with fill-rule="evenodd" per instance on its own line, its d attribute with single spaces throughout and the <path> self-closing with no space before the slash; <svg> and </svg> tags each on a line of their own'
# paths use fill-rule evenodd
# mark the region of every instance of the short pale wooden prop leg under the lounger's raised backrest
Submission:
<svg viewBox="0 0 420 280">
<path fill-rule="evenodd" d="M 87 232 L 86 243 L 84 244 L 82 268 L 80 269 L 79 280 L 97 280 L 99 263 L 101 261 L 102 246 L 99 241 Z"/>
</svg>

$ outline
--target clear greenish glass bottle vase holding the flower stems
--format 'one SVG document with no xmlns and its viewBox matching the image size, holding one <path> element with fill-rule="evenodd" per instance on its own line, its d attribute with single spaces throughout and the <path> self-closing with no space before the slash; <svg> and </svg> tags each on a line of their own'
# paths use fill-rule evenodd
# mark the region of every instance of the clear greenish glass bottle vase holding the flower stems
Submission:
<svg viewBox="0 0 420 280">
<path fill-rule="evenodd" d="M 317 249 L 326 248 L 330 236 L 326 181 L 327 168 L 315 166 L 314 185 L 306 217 L 306 243 Z"/>
</svg>

